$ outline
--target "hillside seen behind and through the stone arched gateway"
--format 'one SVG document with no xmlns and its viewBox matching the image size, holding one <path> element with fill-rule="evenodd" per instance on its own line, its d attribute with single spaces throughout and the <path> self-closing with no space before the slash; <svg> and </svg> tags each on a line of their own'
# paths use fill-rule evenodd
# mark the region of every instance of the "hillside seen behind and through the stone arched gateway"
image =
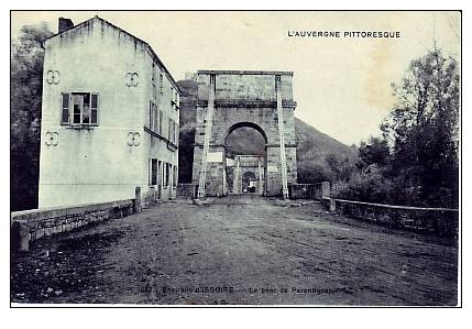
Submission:
<svg viewBox="0 0 472 329">
<path fill-rule="evenodd" d="M 195 138 L 195 100 L 197 99 L 197 83 L 180 80 L 177 83 L 183 91 L 180 97 L 180 152 L 179 178 L 182 183 L 191 180 Z M 333 173 L 327 163 L 331 156 L 340 161 L 352 162 L 356 158 L 356 150 L 318 131 L 308 123 L 295 118 L 297 136 L 298 180 L 315 183 L 331 179 Z M 253 129 L 242 128 L 228 138 L 228 155 L 257 154 L 264 155 L 264 140 Z"/>
</svg>

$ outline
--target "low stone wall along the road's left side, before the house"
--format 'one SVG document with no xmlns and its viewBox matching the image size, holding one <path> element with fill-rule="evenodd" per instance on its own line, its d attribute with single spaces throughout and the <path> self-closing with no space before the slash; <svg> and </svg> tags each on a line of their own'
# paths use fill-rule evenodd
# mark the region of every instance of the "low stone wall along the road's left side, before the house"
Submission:
<svg viewBox="0 0 472 329">
<path fill-rule="evenodd" d="M 35 209 L 11 213 L 10 231 L 13 248 L 28 251 L 30 242 L 42 237 L 121 218 L 140 211 L 133 199 L 70 208 Z"/>
</svg>

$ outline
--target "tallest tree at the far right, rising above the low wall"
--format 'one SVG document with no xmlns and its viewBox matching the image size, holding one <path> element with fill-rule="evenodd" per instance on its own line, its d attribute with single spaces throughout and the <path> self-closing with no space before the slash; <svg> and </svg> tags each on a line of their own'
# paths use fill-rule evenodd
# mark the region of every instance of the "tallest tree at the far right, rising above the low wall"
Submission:
<svg viewBox="0 0 472 329">
<path fill-rule="evenodd" d="M 413 61 L 381 129 L 393 146 L 392 175 L 425 206 L 459 202 L 458 64 L 440 50 Z"/>
</svg>

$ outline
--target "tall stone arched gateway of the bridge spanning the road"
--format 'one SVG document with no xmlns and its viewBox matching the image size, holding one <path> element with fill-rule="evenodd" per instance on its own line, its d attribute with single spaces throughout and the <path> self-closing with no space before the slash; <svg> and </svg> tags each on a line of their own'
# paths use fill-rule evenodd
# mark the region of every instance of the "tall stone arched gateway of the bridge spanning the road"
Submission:
<svg viewBox="0 0 472 329">
<path fill-rule="evenodd" d="M 226 139 L 241 127 L 265 139 L 262 195 L 288 197 L 297 180 L 292 80 L 292 72 L 198 72 L 193 180 L 199 197 L 228 194 Z"/>
</svg>

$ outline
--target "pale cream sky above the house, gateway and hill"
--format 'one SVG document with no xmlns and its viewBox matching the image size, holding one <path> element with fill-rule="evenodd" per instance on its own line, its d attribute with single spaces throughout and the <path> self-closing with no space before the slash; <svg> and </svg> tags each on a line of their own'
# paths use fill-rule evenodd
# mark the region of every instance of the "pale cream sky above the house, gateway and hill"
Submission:
<svg viewBox="0 0 472 329">
<path fill-rule="evenodd" d="M 176 80 L 198 69 L 293 70 L 295 117 L 348 145 L 378 134 L 395 102 L 392 83 L 432 48 L 460 59 L 459 12 L 12 12 L 11 33 L 41 21 L 75 24 L 94 15 L 147 42 Z M 296 37 L 339 31 L 341 37 Z M 349 31 L 399 32 L 398 39 L 342 37 Z"/>
</svg>

